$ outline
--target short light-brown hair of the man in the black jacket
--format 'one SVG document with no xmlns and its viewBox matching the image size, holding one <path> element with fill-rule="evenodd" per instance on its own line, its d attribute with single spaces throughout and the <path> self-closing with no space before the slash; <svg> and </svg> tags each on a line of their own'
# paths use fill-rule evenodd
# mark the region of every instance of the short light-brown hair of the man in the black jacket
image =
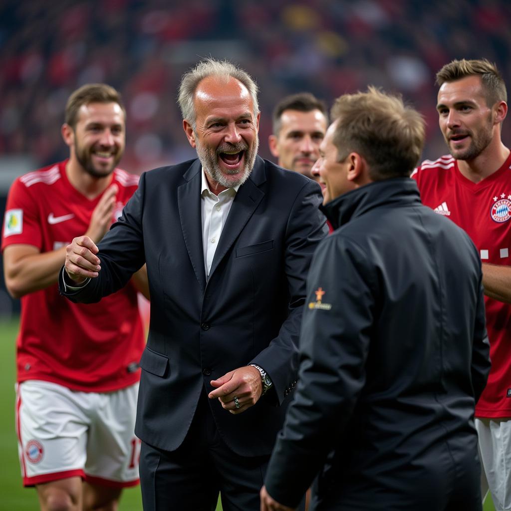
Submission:
<svg viewBox="0 0 511 511">
<path fill-rule="evenodd" d="M 334 103 L 331 117 L 337 121 L 333 143 L 338 161 L 351 152 L 369 166 L 369 177 L 380 181 L 409 176 L 424 147 L 422 115 L 391 96 L 369 86 L 367 92 L 345 94 Z"/>
</svg>

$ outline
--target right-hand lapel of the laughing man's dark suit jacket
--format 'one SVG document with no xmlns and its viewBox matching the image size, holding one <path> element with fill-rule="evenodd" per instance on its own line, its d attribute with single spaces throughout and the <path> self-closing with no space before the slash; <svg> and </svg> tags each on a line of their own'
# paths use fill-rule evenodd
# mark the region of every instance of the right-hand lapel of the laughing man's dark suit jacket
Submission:
<svg viewBox="0 0 511 511">
<path fill-rule="evenodd" d="M 210 279 L 220 261 L 224 258 L 236 238 L 238 238 L 243 227 L 265 196 L 265 193 L 259 188 L 259 185 L 266 180 L 264 167 L 264 160 L 258 156 L 250 177 L 241 185 L 236 194 L 211 264 Z"/>
</svg>

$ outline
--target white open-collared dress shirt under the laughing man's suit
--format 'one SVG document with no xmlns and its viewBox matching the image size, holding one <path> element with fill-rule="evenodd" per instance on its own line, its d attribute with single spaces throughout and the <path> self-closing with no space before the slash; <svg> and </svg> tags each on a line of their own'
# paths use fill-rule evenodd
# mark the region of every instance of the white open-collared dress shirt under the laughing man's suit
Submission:
<svg viewBox="0 0 511 511">
<path fill-rule="evenodd" d="M 207 182 L 204 169 L 202 169 L 202 185 L 200 192 L 201 217 L 202 217 L 202 248 L 204 250 L 204 269 L 206 280 L 210 276 L 211 264 L 217 249 L 223 226 L 227 220 L 230 208 L 240 185 L 227 188 L 215 195 Z"/>
</svg>

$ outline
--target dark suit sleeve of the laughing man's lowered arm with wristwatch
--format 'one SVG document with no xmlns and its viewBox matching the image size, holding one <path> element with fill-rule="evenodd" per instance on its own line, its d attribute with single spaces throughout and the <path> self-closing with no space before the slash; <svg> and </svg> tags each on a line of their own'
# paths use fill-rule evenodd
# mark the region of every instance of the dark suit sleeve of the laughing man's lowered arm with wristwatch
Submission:
<svg viewBox="0 0 511 511">
<path fill-rule="evenodd" d="M 318 243 L 328 234 L 326 218 L 319 210 L 321 201 L 319 185 L 312 180 L 297 194 L 287 222 L 284 253 L 289 314 L 278 336 L 252 361 L 263 367 L 270 376 L 279 404 L 296 383 L 298 337 L 306 298 L 307 274 Z"/>
</svg>

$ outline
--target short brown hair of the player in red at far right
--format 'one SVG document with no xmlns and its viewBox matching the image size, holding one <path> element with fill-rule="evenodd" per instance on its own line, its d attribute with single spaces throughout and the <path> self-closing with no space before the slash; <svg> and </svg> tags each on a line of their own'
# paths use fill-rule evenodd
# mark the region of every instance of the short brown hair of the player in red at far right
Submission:
<svg viewBox="0 0 511 511">
<path fill-rule="evenodd" d="M 496 64 L 486 59 L 453 60 L 436 74 L 436 83 L 442 86 L 468 76 L 480 76 L 486 105 L 492 107 L 498 101 L 507 102 L 507 92 L 502 75 Z"/>
</svg>

